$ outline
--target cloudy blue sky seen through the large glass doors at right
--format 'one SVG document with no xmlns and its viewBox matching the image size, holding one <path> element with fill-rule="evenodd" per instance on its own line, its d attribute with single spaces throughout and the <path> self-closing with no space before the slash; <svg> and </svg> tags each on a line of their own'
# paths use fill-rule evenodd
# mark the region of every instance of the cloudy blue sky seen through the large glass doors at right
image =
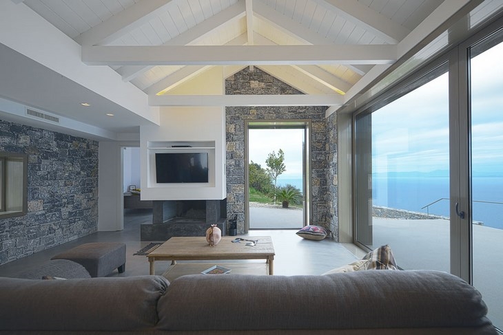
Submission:
<svg viewBox="0 0 503 335">
<path fill-rule="evenodd" d="M 471 61 L 473 171 L 503 166 L 503 43 Z M 372 114 L 374 172 L 449 170 L 448 74 Z M 427 97 L 427 98 L 425 98 Z"/>
</svg>

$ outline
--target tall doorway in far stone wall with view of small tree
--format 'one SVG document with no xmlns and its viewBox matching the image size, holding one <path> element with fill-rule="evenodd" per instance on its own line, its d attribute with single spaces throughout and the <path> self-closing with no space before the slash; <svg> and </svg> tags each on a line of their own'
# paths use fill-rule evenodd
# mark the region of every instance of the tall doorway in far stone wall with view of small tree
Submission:
<svg viewBox="0 0 503 335">
<path fill-rule="evenodd" d="M 309 123 L 247 124 L 247 225 L 299 229 L 309 215 Z"/>
</svg>

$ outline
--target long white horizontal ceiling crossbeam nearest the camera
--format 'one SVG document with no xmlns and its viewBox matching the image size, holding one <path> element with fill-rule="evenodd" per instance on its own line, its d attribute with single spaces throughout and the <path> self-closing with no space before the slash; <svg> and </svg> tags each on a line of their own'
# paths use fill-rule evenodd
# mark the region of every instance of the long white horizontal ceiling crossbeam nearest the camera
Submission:
<svg viewBox="0 0 503 335">
<path fill-rule="evenodd" d="M 396 45 L 83 46 L 87 65 L 391 64 Z"/>
</svg>

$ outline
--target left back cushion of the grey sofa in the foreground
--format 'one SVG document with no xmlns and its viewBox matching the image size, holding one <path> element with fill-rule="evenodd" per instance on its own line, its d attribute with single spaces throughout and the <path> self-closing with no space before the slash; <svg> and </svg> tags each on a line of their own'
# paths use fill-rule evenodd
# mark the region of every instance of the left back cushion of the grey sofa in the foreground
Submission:
<svg viewBox="0 0 503 335">
<path fill-rule="evenodd" d="M 0 330 L 152 328 L 157 322 L 157 301 L 168 285 L 161 276 L 64 281 L 0 278 Z"/>
</svg>

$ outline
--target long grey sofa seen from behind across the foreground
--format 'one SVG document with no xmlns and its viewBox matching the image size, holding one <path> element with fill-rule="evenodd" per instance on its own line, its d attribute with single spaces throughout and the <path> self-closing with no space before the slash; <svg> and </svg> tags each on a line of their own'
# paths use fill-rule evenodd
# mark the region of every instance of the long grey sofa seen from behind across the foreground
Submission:
<svg viewBox="0 0 503 335">
<path fill-rule="evenodd" d="M 496 334 L 438 271 L 0 278 L 0 334 Z"/>
</svg>

